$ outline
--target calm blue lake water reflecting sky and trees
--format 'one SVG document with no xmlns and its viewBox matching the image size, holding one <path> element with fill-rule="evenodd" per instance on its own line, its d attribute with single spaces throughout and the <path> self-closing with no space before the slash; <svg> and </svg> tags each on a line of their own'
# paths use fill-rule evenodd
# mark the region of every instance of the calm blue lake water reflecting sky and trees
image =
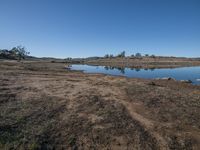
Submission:
<svg viewBox="0 0 200 150">
<path fill-rule="evenodd" d="M 72 65 L 72 70 L 83 70 L 86 73 L 104 73 L 135 78 L 163 78 L 172 77 L 177 80 L 192 80 L 200 84 L 200 67 L 183 67 L 173 69 L 130 69 L 112 68 L 105 66 Z M 198 80 L 199 79 L 199 80 Z"/>
</svg>

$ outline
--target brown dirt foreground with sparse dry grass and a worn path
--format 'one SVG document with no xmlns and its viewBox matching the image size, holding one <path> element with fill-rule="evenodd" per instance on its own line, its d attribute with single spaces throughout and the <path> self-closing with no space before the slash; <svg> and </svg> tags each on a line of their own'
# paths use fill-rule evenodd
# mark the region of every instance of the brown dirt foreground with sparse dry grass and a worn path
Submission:
<svg viewBox="0 0 200 150">
<path fill-rule="evenodd" d="M 0 62 L 0 149 L 200 149 L 200 86 Z"/>
</svg>

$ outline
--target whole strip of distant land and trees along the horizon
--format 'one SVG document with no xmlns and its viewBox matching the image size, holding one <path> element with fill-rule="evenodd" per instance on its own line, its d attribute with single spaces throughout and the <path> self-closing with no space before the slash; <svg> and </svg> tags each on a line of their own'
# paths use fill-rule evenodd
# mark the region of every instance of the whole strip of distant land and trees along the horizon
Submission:
<svg viewBox="0 0 200 150">
<path fill-rule="evenodd" d="M 52 57 L 34 57 L 28 56 L 30 53 L 22 46 L 17 46 L 11 50 L 0 50 L 0 60 L 18 60 L 25 59 L 26 61 L 46 61 L 51 63 L 67 63 L 67 64 L 88 64 L 88 65 L 100 65 L 117 68 L 176 68 L 176 67 L 189 67 L 200 66 L 200 58 L 185 58 L 185 57 L 164 57 L 155 56 L 141 53 L 135 53 L 130 56 L 126 56 L 126 52 L 122 51 L 117 55 L 106 54 L 104 57 L 87 57 L 87 58 L 52 58 Z"/>
</svg>

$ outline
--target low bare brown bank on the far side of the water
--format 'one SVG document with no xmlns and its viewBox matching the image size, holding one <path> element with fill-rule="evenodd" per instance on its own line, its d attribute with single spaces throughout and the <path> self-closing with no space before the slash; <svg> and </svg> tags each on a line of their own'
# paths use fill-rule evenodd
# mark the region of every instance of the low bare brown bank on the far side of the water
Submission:
<svg viewBox="0 0 200 150">
<path fill-rule="evenodd" d="M 85 64 L 129 67 L 129 68 L 175 68 L 187 66 L 200 66 L 200 58 L 184 57 L 113 57 L 100 59 L 85 59 Z"/>
</svg>

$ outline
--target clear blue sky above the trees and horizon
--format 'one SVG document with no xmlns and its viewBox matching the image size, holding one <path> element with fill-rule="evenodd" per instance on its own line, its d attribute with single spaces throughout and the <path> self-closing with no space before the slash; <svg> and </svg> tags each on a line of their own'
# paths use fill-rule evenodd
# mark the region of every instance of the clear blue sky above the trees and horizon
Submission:
<svg viewBox="0 0 200 150">
<path fill-rule="evenodd" d="M 200 57 L 200 0 L 0 0 L 0 48 Z"/>
</svg>

